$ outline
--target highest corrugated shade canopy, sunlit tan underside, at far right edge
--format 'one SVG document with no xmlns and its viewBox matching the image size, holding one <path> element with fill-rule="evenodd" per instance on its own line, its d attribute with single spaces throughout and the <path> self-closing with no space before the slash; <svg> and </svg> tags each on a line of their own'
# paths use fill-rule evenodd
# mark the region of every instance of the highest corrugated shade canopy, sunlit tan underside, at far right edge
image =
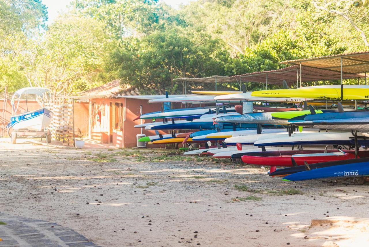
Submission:
<svg viewBox="0 0 369 247">
<path fill-rule="evenodd" d="M 343 73 L 356 74 L 369 71 L 368 51 L 289 60 L 282 62 L 282 64 L 300 65 L 301 63 L 303 66 L 341 72 L 341 59 Z"/>
</svg>

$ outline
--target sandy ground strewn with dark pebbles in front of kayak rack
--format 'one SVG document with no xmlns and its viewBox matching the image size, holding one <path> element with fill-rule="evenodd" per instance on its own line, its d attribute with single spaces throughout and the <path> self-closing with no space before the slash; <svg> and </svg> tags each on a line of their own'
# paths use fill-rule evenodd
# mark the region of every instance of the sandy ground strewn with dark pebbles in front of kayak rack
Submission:
<svg viewBox="0 0 369 247">
<path fill-rule="evenodd" d="M 169 152 L 48 152 L 0 139 L 0 211 L 71 227 L 101 246 L 368 244 L 368 185 L 283 182 L 260 167 Z"/>
</svg>

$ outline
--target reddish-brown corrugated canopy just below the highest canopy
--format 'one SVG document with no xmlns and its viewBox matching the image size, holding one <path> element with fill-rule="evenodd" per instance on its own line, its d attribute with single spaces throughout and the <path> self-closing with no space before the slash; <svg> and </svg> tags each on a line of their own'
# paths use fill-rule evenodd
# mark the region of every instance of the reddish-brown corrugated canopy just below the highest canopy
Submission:
<svg viewBox="0 0 369 247">
<path fill-rule="evenodd" d="M 259 82 L 268 84 L 282 85 L 282 80 L 286 80 L 287 84 L 291 85 L 297 83 L 299 80 L 300 65 L 292 65 L 287 68 L 270 70 L 270 71 L 258 71 L 252 73 L 246 73 L 243 75 L 234 75 L 233 78 L 242 80 L 242 82 Z M 355 73 L 343 73 L 343 79 L 362 78 L 363 75 Z M 328 69 L 312 68 L 309 66 L 301 65 L 301 81 L 313 82 L 318 80 L 339 80 L 341 79 L 341 73 L 338 71 L 331 71 Z"/>
</svg>

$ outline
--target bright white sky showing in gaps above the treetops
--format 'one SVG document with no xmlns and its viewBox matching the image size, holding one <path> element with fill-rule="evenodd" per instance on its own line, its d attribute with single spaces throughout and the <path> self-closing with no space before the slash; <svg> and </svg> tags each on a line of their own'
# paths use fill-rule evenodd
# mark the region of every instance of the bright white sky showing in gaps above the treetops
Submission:
<svg viewBox="0 0 369 247">
<path fill-rule="evenodd" d="M 159 0 L 165 2 L 166 4 L 172 6 L 173 8 L 178 8 L 181 3 L 187 4 L 190 0 Z M 51 24 L 55 17 L 58 16 L 59 11 L 66 9 L 66 6 L 70 4 L 72 0 L 42 0 L 42 3 L 48 7 L 48 24 Z"/>
</svg>

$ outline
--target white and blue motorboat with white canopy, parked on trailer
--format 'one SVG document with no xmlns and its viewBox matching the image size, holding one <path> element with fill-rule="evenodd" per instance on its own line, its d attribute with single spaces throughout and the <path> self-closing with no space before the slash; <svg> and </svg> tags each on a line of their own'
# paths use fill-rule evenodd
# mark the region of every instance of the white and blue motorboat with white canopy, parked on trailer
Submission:
<svg viewBox="0 0 369 247">
<path fill-rule="evenodd" d="M 49 95 L 50 91 L 45 88 L 22 88 L 17 90 L 12 99 L 12 114 L 10 117 L 10 123 L 6 126 L 8 134 L 10 136 L 11 131 L 43 131 L 47 128 L 52 119 L 52 112 L 50 109 L 46 108 L 46 103 L 49 106 Z M 39 99 L 39 104 L 41 108 L 28 111 L 28 101 L 29 99 L 35 100 Z M 19 109 L 20 100 L 26 100 L 26 111 L 21 112 Z M 45 101 L 46 100 L 46 101 Z"/>
</svg>

